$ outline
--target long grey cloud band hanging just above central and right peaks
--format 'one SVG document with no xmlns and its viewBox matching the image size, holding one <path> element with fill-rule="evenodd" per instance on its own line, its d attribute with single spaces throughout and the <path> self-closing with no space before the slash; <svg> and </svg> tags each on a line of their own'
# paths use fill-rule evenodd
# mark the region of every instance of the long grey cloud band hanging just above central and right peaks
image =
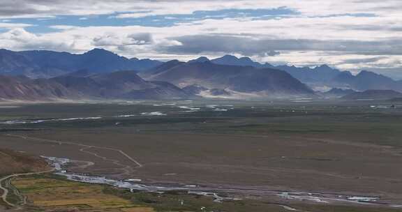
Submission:
<svg viewBox="0 0 402 212">
<path fill-rule="evenodd" d="M 328 51 L 343 54 L 402 55 L 402 39 L 383 41 L 273 39 L 255 36 L 196 35 L 174 37 L 182 45 L 163 47 L 164 52 L 202 54 L 229 52 L 244 55 L 267 51 Z M 271 56 L 271 55 L 270 55 Z"/>
</svg>

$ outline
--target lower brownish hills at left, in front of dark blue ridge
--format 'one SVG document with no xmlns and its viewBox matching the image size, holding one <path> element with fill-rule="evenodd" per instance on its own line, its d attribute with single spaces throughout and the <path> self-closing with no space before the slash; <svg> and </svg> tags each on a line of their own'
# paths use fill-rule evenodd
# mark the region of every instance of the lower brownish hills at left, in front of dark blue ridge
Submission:
<svg viewBox="0 0 402 212">
<path fill-rule="evenodd" d="M 168 82 L 148 82 L 133 71 L 81 77 L 63 75 L 50 79 L 0 76 L 0 100 L 80 100 L 191 98 Z"/>
</svg>

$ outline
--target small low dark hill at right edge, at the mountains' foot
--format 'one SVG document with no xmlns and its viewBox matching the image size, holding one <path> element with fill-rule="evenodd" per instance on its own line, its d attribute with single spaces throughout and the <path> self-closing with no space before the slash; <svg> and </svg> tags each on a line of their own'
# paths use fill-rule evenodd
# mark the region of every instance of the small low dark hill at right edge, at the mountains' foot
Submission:
<svg viewBox="0 0 402 212">
<path fill-rule="evenodd" d="M 402 98 L 402 93 L 392 90 L 367 90 L 362 92 L 350 93 L 343 96 L 344 100 L 391 100 Z"/>
</svg>

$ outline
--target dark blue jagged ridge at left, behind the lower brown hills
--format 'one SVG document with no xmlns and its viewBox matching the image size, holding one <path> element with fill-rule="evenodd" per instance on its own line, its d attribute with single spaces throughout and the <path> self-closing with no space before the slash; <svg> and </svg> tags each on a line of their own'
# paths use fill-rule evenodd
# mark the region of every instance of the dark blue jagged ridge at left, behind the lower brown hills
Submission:
<svg viewBox="0 0 402 212">
<path fill-rule="evenodd" d="M 12 52 L 0 50 L 0 74 L 28 77 L 55 77 L 77 70 L 110 73 L 118 70 L 147 70 L 160 66 L 161 61 L 127 59 L 112 52 L 94 49 L 84 54 L 52 51 Z"/>
</svg>

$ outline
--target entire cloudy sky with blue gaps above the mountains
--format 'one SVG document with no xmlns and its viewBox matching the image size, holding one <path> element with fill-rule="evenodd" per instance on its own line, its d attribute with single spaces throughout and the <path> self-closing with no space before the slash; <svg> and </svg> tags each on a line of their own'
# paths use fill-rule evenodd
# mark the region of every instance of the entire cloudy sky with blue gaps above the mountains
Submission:
<svg viewBox="0 0 402 212">
<path fill-rule="evenodd" d="M 327 63 L 402 79 L 401 0 L 0 0 L 0 48 Z"/>
</svg>

